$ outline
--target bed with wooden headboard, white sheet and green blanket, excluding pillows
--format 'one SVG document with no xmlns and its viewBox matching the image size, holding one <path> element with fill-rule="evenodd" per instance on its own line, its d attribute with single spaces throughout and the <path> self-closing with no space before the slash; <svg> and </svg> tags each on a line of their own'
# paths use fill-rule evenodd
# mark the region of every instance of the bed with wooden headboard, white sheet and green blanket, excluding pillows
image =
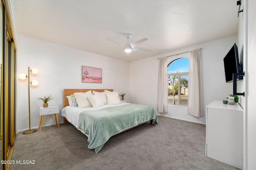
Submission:
<svg viewBox="0 0 256 170">
<path fill-rule="evenodd" d="M 66 121 L 72 123 L 79 131 L 88 137 L 88 149 L 94 149 L 96 153 L 102 149 L 108 139 L 118 133 L 122 133 L 150 121 L 158 124 L 156 111 L 147 105 L 119 103 L 104 104 L 99 107 L 70 106 L 67 96 L 77 92 L 87 93 L 104 92 L 110 94 L 113 89 L 64 89 L 64 108 L 61 115 Z M 105 94 L 105 93 L 104 93 Z"/>
</svg>

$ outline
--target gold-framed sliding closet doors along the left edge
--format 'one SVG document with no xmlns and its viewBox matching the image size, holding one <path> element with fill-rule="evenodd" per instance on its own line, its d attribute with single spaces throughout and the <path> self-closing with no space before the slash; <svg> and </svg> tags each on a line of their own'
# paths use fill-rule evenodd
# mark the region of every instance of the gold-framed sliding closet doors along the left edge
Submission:
<svg viewBox="0 0 256 170">
<path fill-rule="evenodd" d="M 2 5 L 2 1 L 1 1 Z M 2 160 L 10 160 L 16 134 L 16 51 L 6 8 L 2 10 L 1 129 Z M 8 164 L 2 164 L 7 169 Z"/>
</svg>

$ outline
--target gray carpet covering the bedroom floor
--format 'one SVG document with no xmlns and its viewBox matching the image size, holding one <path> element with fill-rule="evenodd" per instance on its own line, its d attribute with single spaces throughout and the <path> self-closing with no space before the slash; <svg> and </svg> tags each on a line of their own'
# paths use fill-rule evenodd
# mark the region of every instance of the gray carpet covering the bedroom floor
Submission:
<svg viewBox="0 0 256 170">
<path fill-rule="evenodd" d="M 10 170 L 236 170 L 205 156 L 205 125 L 158 116 L 111 137 L 97 154 L 70 123 L 16 136 Z"/>
</svg>

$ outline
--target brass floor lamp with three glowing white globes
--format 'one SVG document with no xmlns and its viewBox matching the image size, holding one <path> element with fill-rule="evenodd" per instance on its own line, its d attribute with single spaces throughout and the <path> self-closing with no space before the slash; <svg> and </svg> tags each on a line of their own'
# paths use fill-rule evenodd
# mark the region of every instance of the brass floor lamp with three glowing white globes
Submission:
<svg viewBox="0 0 256 170">
<path fill-rule="evenodd" d="M 26 75 L 24 73 L 20 73 L 19 76 L 18 76 L 21 80 L 26 80 L 26 78 L 28 78 L 28 119 L 29 119 L 29 129 L 24 131 L 23 134 L 30 134 L 30 133 L 36 132 L 36 129 L 30 129 L 30 84 L 32 86 L 37 86 L 38 85 L 38 81 L 37 80 L 31 80 L 31 82 L 30 82 L 30 72 L 32 74 L 37 74 L 38 73 L 38 69 L 32 68 L 30 70 L 30 68 L 28 67 L 28 75 Z"/>
</svg>

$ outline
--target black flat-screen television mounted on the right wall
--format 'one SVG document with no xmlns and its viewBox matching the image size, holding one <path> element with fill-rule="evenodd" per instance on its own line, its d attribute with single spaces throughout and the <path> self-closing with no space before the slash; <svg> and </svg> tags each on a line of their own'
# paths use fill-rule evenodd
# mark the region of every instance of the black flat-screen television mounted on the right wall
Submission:
<svg viewBox="0 0 256 170">
<path fill-rule="evenodd" d="M 240 72 L 240 63 L 236 43 L 232 46 L 228 54 L 224 57 L 224 70 L 226 82 L 233 82 L 233 73 Z M 242 80 L 243 76 L 238 76 L 237 80 Z"/>
</svg>

